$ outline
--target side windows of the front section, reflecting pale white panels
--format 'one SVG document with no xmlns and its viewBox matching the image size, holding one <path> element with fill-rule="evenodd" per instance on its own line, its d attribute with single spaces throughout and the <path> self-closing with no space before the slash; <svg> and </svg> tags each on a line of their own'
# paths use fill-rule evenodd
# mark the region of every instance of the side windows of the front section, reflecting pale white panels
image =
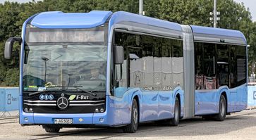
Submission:
<svg viewBox="0 0 256 140">
<path fill-rule="evenodd" d="M 127 49 L 128 87 L 146 91 L 183 87 L 181 40 L 121 32 L 115 33 L 115 40 L 123 40 L 122 45 Z"/>
</svg>

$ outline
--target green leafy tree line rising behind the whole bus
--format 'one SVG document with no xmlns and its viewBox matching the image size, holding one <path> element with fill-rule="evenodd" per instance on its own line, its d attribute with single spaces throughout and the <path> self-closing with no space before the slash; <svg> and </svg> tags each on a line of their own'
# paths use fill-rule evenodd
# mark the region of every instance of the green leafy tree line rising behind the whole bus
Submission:
<svg viewBox="0 0 256 140">
<path fill-rule="evenodd" d="M 221 12 L 218 26 L 240 30 L 245 34 L 249 49 L 249 65 L 256 61 L 256 23 L 252 23 L 249 9 L 233 0 L 219 0 L 217 11 Z M 138 13 L 138 0 L 43 0 L 18 4 L 0 4 L 0 45 L 8 37 L 20 37 L 24 21 L 31 15 L 44 11 L 90 12 L 128 11 Z M 144 0 L 146 16 L 185 25 L 212 27 L 209 13 L 213 11 L 213 0 Z M 13 59 L 4 59 L 4 47 L 0 49 L 0 85 L 18 85 L 19 45 L 13 49 Z M 249 72 L 252 72 L 250 67 Z"/>
</svg>

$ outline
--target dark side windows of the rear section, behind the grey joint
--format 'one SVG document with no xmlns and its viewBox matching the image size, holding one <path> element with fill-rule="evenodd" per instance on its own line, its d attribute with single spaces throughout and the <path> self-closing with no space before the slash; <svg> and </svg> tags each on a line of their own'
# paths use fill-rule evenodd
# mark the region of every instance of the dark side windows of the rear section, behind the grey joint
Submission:
<svg viewBox="0 0 256 140">
<path fill-rule="evenodd" d="M 196 90 L 233 88 L 245 82 L 245 46 L 195 42 Z"/>
</svg>

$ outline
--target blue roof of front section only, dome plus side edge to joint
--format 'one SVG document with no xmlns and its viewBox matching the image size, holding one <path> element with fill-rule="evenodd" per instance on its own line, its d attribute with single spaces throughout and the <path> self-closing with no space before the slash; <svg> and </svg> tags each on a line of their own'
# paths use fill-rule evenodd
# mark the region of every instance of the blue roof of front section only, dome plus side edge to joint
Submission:
<svg viewBox="0 0 256 140">
<path fill-rule="evenodd" d="M 102 25 L 111 14 L 111 11 L 90 11 L 89 13 L 63 13 L 61 11 L 42 12 L 32 19 L 31 25 L 47 29 L 90 28 Z M 165 20 L 159 20 L 124 11 L 115 12 L 111 19 L 114 23 L 128 21 L 181 31 L 181 25 L 178 23 L 171 23 Z"/>
</svg>

